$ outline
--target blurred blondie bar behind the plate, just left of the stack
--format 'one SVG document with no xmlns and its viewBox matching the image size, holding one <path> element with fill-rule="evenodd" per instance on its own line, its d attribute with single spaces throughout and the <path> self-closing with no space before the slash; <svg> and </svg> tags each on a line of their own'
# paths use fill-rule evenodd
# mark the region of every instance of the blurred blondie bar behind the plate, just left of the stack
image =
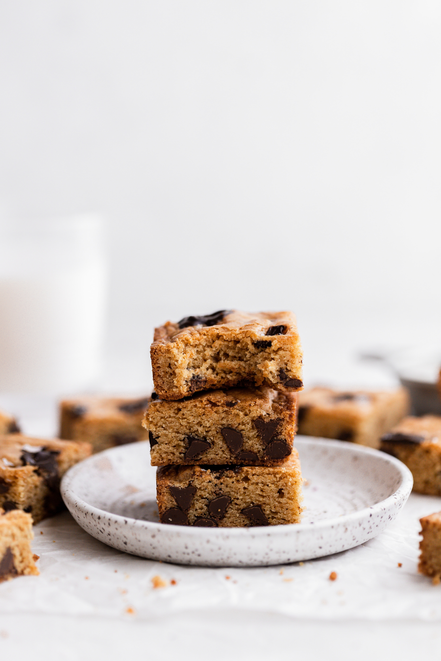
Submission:
<svg viewBox="0 0 441 661">
<path fill-rule="evenodd" d="M 94 452 L 144 441 L 141 420 L 148 397 L 77 397 L 60 404 L 60 437 L 91 443 Z"/>
</svg>

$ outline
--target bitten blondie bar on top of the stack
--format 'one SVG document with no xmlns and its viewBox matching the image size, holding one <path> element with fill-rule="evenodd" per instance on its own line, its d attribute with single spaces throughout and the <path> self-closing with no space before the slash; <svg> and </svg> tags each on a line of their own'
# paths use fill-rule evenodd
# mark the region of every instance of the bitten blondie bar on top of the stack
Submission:
<svg viewBox="0 0 441 661">
<path fill-rule="evenodd" d="M 221 310 L 167 321 L 155 329 L 150 353 L 161 399 L 235 385 L 282 392 L 303 387 L 300 338 L 291 312 Z"/>
</svg>

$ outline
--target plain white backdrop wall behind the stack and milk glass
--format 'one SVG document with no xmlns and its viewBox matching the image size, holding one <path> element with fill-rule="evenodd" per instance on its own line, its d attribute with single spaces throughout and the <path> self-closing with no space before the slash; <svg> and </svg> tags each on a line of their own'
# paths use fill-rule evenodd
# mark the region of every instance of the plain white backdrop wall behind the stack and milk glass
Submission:
<svg viewBox="0 0 441 661">
<path fill-rule="evenodd" d="M 294 309 L 311 380 L 440 336 L 440 33 L 432 0 L 2 1 L 0 206 L 108 219 L 108 387 L 223 307 Z"/>
</svg>

